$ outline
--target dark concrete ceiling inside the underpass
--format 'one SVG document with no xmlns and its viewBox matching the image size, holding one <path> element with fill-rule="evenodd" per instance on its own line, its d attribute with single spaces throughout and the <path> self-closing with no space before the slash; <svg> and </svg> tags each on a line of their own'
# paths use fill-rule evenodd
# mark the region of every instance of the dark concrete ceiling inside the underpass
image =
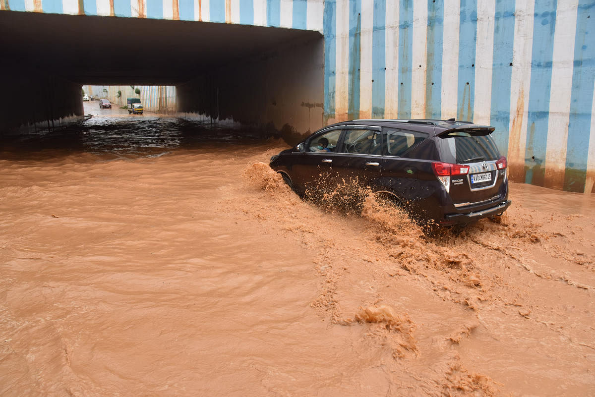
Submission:
<svg viewBox="0 0 595 397">
<path fill-rule="evenodd" d="M 321 40 L 317 31 L 0 11 L 5 68 L 80 84 L 175 85 L 217 67 Z"/>
</svg>

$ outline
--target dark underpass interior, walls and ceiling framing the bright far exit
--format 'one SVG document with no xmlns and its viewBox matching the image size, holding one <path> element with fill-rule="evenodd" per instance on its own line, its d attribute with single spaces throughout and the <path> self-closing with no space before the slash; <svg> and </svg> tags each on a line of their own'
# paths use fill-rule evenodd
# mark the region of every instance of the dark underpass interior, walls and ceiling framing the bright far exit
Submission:
<svg viewBox="0 0 595 397">
<path fill-rule="evenodd" d="M 84 115 L 87 85 L 176 86 L 176 112 L 296 140 L 322 125 L 318 31 L 0 11 L 0 134 Z"/>
</svg>

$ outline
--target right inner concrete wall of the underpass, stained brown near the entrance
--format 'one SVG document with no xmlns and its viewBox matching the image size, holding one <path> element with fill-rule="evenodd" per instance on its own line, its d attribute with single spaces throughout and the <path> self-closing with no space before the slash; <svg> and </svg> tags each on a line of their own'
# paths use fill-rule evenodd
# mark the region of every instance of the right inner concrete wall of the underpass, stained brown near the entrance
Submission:
<svg viewBox="0 0 595 397">
<path fill-rule="evenodd" d="M 296 143 L 322 127 L 323 76 L 323 40 L 294 43 L 177 86 L 178 111 Z"/>
</svg>

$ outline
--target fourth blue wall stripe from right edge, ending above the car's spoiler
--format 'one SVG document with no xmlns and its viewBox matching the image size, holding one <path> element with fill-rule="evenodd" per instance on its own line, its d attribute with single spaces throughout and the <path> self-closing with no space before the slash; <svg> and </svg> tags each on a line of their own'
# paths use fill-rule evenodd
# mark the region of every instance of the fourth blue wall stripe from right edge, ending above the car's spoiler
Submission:
<svg viewBox="0 0 595 397">
<path fill-rule="evenodd" d="M 459 87 L 456 119 L 473 120 L 475 104 L 475 45 L 477 44 L 477 0 L 461 0 L 459 22 Z"/>
</svg>

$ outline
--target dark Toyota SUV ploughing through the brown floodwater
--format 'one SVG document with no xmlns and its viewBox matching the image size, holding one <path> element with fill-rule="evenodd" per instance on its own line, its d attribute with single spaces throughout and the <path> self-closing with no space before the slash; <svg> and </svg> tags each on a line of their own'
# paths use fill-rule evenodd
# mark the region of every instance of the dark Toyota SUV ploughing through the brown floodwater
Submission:
<svg viewBox="0 0 595 397">
<path fill-rule="evenodd" d="M 493 131 L 455 119 L 346 121 L 271 157 L 270 166 L 302 197 L 356 181 L 426 225 L 464 225 L 511 205 Z"/>
</svg>

